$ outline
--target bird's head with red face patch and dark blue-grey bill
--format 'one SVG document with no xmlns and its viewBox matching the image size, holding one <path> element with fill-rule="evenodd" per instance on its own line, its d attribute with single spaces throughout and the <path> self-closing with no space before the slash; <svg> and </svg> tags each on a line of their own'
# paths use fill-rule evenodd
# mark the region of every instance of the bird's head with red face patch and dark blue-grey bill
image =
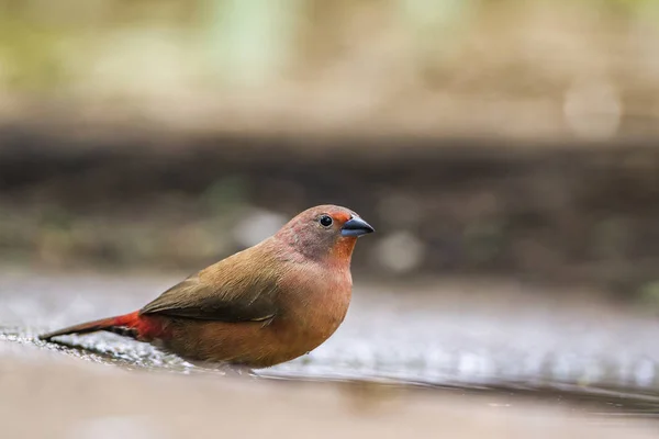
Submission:
<svg viewBox="0 0 659 439">
<path fill-rule="evenodd" d="M 357 238 L 372 232 L 373 227 L 349 209 L 325 204 L 300 213 L 275 236 L 308 258 L 349 262 Z"/>
</svg>

